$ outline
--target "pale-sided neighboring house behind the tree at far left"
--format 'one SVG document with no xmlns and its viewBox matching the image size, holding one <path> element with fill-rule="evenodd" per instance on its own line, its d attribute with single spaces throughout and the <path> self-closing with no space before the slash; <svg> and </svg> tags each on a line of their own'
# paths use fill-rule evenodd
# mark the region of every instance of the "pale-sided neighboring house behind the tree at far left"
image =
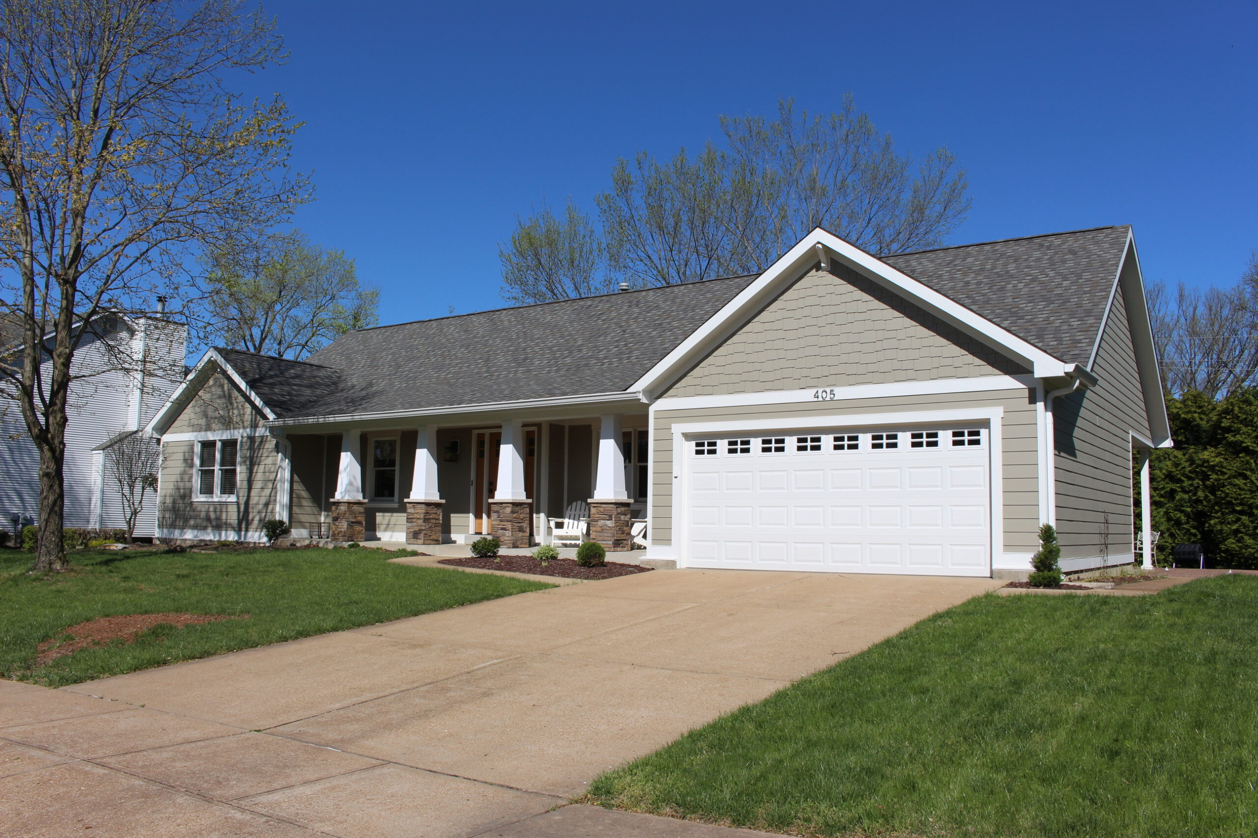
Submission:
<svg viewBox="0 0 1258 838">
<path fill-rule="evenodd" d="M 5 363 L 20 363 L 20 332 L 5 329 Z M 108 449 L 143 428 L 184 378 L 186 327 L 151 317 L 106 313 L 87 327 L 70 372 L 65 426 L 65 526 L 122 528 L 121 491 Z M 39 452 L 18 402 L 0 391 L 0 526 L 39 516 Z M 136 535 L 152 536 L 156 492 L 147 492 Z"/>
</svg>

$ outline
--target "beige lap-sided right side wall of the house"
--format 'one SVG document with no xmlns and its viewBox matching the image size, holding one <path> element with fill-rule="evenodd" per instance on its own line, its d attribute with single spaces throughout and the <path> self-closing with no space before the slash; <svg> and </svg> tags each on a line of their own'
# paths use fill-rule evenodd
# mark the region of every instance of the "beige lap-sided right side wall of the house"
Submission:
<svg viewBox="0 0 1258 838">
<path fill-rule="evenodd" d="M 1122 289 L 1138 279 L 1123 280 L 1092 369 L 1099 383 L 1053 406 L 1057 529 L 1066 559 L 1116 558 L 1133 549 L 1131 433 L 1151 433 Z"/>
</svg>

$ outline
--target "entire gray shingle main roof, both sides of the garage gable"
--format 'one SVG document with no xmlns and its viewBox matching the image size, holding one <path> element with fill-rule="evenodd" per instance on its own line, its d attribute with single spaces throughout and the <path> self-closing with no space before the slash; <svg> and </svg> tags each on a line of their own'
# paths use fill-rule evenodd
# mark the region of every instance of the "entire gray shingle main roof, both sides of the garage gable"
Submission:
<svg viewBox="0 0 1258 838">
<path fill-rule="evenodd" d="M 1068 363 L 1087 363 L 1128 227 L 884 261 Z M 626 389 L 756 279 L 732 276 L 351 332 L 307 362 L 219 349 L 281 418 Z"/>
</svg>

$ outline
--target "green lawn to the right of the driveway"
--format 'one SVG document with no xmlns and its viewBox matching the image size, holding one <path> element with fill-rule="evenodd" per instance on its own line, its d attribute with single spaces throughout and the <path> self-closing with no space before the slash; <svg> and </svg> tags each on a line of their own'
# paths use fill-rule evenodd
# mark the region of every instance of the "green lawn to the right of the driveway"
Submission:
<svg viewBox="0 0 1258 838">
<path fill-rule="evenodd" d="M 1258 578 L 986 596 L 605 774 L 589 800 L 819 835 L 1258 834 Z"/>
</svg>

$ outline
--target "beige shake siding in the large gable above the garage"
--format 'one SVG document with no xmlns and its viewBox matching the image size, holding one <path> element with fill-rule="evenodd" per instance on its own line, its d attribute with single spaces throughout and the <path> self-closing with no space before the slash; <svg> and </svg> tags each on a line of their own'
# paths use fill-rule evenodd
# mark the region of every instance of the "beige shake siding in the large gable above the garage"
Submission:
<svg viewBox="0 0 1258 838">
<path fill-rule="evenodd" d="M 668 396 L 1015 374 L 1027 369 L 860 274 L 814 270 Z"/>
</svg>

